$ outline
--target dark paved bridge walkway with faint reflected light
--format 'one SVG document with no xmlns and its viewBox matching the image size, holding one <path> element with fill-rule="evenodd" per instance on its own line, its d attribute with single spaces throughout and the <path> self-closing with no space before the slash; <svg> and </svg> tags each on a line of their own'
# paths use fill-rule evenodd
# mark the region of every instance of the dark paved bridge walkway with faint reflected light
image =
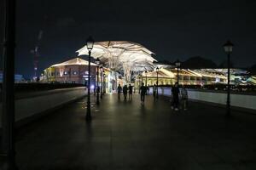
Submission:
<svg viewBox="0 0 256 170">
<path fill-rule="evenodd" d="M 256 169 L 256 116 L 190 103 L 171 111 L 147 96 L 120 101 L 106 94 L 84 121 L 85 99 L 23 127 L 17 137 L 20 170 Z M 94 98 L 92 98 L 94 99 Z"/>
</svg>

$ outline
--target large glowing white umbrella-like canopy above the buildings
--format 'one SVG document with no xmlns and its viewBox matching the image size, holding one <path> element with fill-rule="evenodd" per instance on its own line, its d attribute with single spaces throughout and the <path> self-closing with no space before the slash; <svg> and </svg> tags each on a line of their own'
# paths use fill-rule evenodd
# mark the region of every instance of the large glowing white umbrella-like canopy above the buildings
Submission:
<svg viewBox="0 0 256 170">
<path fill-rule="evenodd" d="M 78 51 L 79 55 L 88 55 L 85 45 Z M 154 70 L 153 52 L 136 42 L 106 41 L 95 42 L 91 50 L 91 57 L 99 58 L 102 63 L 113 71 L 124 72 L 126 81 L 131 80 L 132 71 Z"/>
</svg>

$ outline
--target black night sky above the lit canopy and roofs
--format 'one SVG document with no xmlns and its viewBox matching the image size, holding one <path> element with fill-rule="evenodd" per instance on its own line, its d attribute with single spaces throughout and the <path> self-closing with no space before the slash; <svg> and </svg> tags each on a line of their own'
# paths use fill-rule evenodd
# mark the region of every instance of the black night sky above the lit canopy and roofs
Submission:
<svg viewBox="0 0 256 170">
<path fill-rule="evenodd" d="M 33 74 L 31 50 L 39 42 L 39 71 L 71 59 L 88 36 L 96 41 L 143 44 L 157 59 L 200 55 L 219 64 L 222 45 L 234 42 L 238 67 L 256 64 L 256 1 L 253 0 L 24 0 L 17 4 L 16 72 Z M 3 40 L 3 0 L 0 0 Z M 2 54 L 2 47 L 1 47 Z"/>
</svg>

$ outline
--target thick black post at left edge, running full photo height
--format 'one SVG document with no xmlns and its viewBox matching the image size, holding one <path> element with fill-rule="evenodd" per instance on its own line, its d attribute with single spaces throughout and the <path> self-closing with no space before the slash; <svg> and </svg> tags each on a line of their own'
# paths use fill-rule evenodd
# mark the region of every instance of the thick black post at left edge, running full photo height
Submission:
<svg viewBox="0 0 256 170">
<path fill-rule="evenodd" d="M 3 1 L 3 88 L 0 169 L 16 169 L 15 163 L 15 0 Z"/>
</svg>

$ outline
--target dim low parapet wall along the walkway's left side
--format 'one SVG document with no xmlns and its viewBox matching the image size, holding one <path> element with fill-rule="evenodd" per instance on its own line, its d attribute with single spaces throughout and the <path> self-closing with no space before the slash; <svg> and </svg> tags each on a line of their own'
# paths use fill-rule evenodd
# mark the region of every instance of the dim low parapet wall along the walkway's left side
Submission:
<svg viewBox="0 0 256 170">
<path fill-rule="evenodd" d="M 37 90 L 15 94 L 15 122 L 17 125 L 31 122 L 61 105 L 83 98 L 86 94 L 87 91 L 84 87 Z M 0 102 L 0 127 L 1 119 L 2 103 Z"/>
</svg>

